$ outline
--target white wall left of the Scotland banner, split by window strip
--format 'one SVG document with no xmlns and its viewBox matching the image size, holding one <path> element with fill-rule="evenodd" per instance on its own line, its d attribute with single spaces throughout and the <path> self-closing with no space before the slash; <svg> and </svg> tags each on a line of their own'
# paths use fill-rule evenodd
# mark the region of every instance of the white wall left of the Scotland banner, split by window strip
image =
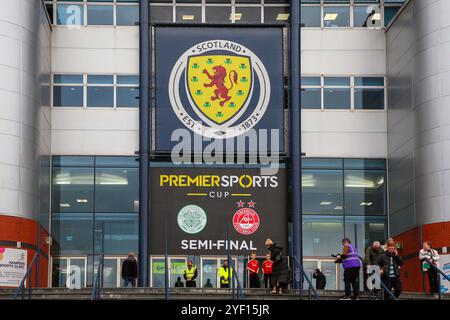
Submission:
<svg viewBox="0 0 450 320">
<path fill-rule="evenodd" d="M 138 74 L 139 28 L 55 26 L 53 73 Z M 53 108 L 52 154 L 134 155 L 138 109 Z"/>
</svg>

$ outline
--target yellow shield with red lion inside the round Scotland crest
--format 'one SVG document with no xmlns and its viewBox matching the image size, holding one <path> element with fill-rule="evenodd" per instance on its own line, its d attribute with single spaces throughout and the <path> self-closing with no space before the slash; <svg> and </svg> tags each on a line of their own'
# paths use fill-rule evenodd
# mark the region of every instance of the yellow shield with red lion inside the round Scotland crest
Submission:
<svg viewBox="0 0 450 320">
<path fill-rule="evenodd" d="M 191 56 L 187 65 L 186 83 L 192 107 L 206 118 L 221 125 L 246 106 L 253 83 L 249 57 Z"/>
</svg>

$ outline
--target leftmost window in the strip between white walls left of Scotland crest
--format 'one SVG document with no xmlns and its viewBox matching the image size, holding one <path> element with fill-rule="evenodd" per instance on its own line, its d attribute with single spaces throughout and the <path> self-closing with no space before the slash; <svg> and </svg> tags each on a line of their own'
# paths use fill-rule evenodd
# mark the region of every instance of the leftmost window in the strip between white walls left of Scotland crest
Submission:
<svg viewBox="0 0 450 320">
<path fill-rule="evenodd" d="M 53 106 L 83 106 L 83 75 L 53 75 Z"/>
</svg>

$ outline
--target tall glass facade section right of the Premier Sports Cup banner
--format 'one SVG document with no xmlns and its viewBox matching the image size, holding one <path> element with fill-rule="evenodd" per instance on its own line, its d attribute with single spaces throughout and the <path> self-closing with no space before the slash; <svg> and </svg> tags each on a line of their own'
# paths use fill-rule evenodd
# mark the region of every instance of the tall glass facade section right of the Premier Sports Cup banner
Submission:
<svg viewBox="0 0 450 320">
<path fill-rule="evenodd" d="M 330 258 L 352 239 L 360 255 L 387 236 L 386 161 L 305 159 L 303 254 Z"/>
</svg>

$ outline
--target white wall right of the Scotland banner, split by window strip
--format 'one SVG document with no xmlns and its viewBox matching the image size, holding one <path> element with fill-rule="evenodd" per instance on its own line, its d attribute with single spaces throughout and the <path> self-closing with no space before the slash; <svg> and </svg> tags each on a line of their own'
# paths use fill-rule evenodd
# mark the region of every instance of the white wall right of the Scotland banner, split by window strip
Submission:
<svg viewBox="0 0 450 320">
<path fill-rule="evenodd" d="M 302 74 L 385 76 L 384 31 L 303 29 Z M 386 158 L 386 111 L 303 110 L 307 157 Z"/>
</svg>

